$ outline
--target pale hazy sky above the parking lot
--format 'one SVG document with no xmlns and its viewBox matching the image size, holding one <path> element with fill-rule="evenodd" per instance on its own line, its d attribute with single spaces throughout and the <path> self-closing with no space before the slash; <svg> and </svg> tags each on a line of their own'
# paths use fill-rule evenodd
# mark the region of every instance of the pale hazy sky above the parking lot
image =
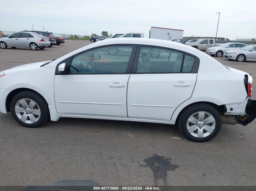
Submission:
<svg viewBox="0 0 256 191">
<path fill-rule="evenodd" d="M 0 30 L 91 35 L 140 32 L 151 26 L 184 30 L 184 37 L 256 38 L 256 0 L 6 0 Z"/>
</svg>

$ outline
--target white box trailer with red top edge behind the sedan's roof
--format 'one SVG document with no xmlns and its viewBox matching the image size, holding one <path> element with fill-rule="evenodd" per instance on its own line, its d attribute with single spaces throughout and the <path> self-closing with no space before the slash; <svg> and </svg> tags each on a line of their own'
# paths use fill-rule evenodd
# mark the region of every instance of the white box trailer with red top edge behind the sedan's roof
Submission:
<svg viewBox="0 0 256 191">
<path fill-rule="evenodd" d="M 151 27 L 149 31 L 149 38 L 171 40 L 174 38 L 182 39 L 184 30 L 170 29 L 161 27 Z"/>
</svg>

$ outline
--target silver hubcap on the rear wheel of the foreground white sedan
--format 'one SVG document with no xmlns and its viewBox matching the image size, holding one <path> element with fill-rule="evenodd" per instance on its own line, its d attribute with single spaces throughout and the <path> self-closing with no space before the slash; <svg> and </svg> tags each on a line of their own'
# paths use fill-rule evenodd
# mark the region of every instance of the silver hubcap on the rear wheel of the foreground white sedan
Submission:
<svg viewBox="0 0 256 191">
<path fill-rule="evenodd" d="M 214 117 L 205 111 L 192 114 L 187 121 L 188 132 L 198 138 L 209 136 L 215 129 Z"/>
</svg>

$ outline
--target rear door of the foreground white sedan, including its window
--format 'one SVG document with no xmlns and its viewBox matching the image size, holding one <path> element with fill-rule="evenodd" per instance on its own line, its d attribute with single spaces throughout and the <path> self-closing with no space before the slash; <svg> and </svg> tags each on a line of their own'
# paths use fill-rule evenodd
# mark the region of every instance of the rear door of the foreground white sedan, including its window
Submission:
<svg viewBox="0 0 256 191">
<path fill-rule="evenodd" d="M 150 52 L 160 52 L 151 57 Z M 199 59 L 178 50 L 138 46 L 127 91 L 129 118 L 169 121 L 193 92 Z"/>
</svg>

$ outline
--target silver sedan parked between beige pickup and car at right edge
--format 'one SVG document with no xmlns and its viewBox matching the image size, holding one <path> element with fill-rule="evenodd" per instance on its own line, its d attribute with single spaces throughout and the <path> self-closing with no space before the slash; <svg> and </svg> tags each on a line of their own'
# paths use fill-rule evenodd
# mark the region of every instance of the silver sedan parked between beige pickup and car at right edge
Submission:
<svg viewBox="0 0 256 191">
<path fill-rule="evenodd" d="M 244 46 L 247 46 L 247 44 L 244 44 L 244 43 L 225 43 L 225 44 L 222 44 L 220 46 L 215 46 L 215 47 L 211 47 L 211 48 L 206 49 L 206 53 L 211 55 L 211 56 L 221 57 L 228 50 L 240 49 Z"/>
</svg>

